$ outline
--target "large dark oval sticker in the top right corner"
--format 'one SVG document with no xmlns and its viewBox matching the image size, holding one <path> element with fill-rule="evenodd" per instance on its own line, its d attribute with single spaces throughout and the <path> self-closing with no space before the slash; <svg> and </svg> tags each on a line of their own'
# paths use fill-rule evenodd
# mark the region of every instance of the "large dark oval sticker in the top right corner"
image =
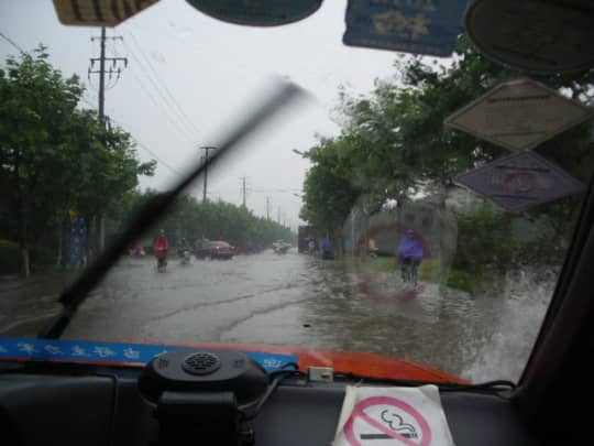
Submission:
<svg viewBox="0 0 594 446">
<path fill-rule="evenodd" d="M 496 62 L 538 74 L 571 73 L 594 66 L 593 15 L 590 0 L 474 0 L 465 26 Z"/>
</svg>

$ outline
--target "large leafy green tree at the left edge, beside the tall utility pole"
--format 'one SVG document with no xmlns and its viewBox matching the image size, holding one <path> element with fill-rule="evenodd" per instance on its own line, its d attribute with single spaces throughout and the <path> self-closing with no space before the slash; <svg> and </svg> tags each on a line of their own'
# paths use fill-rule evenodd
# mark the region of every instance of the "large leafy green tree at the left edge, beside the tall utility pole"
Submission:
<svg viewBox="0 0 594 446">
<path fill-rule="evenodd" d="M 54 240 L 67 211 L 101 213 L 136 186 L 140 164 L 130 135 L 105 129 L 92 111 L 77 109 L 84 88 L 51 66 L 44 46 L 8 57 L 0 69 L 0 207 L 2 230 L 18 240 L 21 271 L 30 247 Z"/>
</svg>

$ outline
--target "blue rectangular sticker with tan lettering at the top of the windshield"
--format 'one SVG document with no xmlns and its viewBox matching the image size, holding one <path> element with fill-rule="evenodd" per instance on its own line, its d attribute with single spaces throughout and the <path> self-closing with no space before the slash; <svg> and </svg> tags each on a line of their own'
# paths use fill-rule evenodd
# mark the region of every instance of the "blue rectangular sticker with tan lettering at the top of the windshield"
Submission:
<svg viewBox="0 0 594 446">
<path fill-rule="evenodd" d="M 350 0 L 345 45 L 451 56 L 466 0 Z"/>
</svg>

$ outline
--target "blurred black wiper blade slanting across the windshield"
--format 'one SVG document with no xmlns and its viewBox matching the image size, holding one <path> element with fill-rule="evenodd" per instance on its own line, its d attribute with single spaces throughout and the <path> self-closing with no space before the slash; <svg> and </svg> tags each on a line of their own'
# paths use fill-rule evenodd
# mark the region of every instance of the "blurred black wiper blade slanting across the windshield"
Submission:
<svg viewBox="0 0 594 446">
<path fill-rule="evenodd" d="M 304 96 L 305 91 L 295 84 L 279 83 L 271 97 L 222 140 L 219 149 L 209 157 L 208 166 L 212 167 L 216 162 L 220 162 L 223 156 L 229 155 L 232 149 L 258 130 L 279 110 Z M 56 339 L 64 333 L 88 293 L 99 284 L 127 251 L 130 243 L 150 229 L 161 215 L 174 205 L 177 196 L 202 174 L 206 167 L 206 163 L 200 163 L 172 191 L 153 197 L 132 217 L 124 232 L 73 284 L 62 292 L 59 302 L 64 305 L 64 308 L 52 319 L 51 324 L 38 333 L 37 338 Z"/>
</svg>

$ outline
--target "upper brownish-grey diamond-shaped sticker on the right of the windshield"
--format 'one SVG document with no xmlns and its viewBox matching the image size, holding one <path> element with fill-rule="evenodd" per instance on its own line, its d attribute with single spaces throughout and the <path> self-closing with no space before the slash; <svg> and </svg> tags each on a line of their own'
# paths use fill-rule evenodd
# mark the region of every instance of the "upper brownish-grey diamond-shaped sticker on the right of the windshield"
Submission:
<svg viewBox="0 0 594 446">
<path fill-rule="evenodd" d="M 498 85 L 446 126 L 510 150 L 530 150 L 592 117 L 592 110 L 529 79 Z"/>
</svg>

